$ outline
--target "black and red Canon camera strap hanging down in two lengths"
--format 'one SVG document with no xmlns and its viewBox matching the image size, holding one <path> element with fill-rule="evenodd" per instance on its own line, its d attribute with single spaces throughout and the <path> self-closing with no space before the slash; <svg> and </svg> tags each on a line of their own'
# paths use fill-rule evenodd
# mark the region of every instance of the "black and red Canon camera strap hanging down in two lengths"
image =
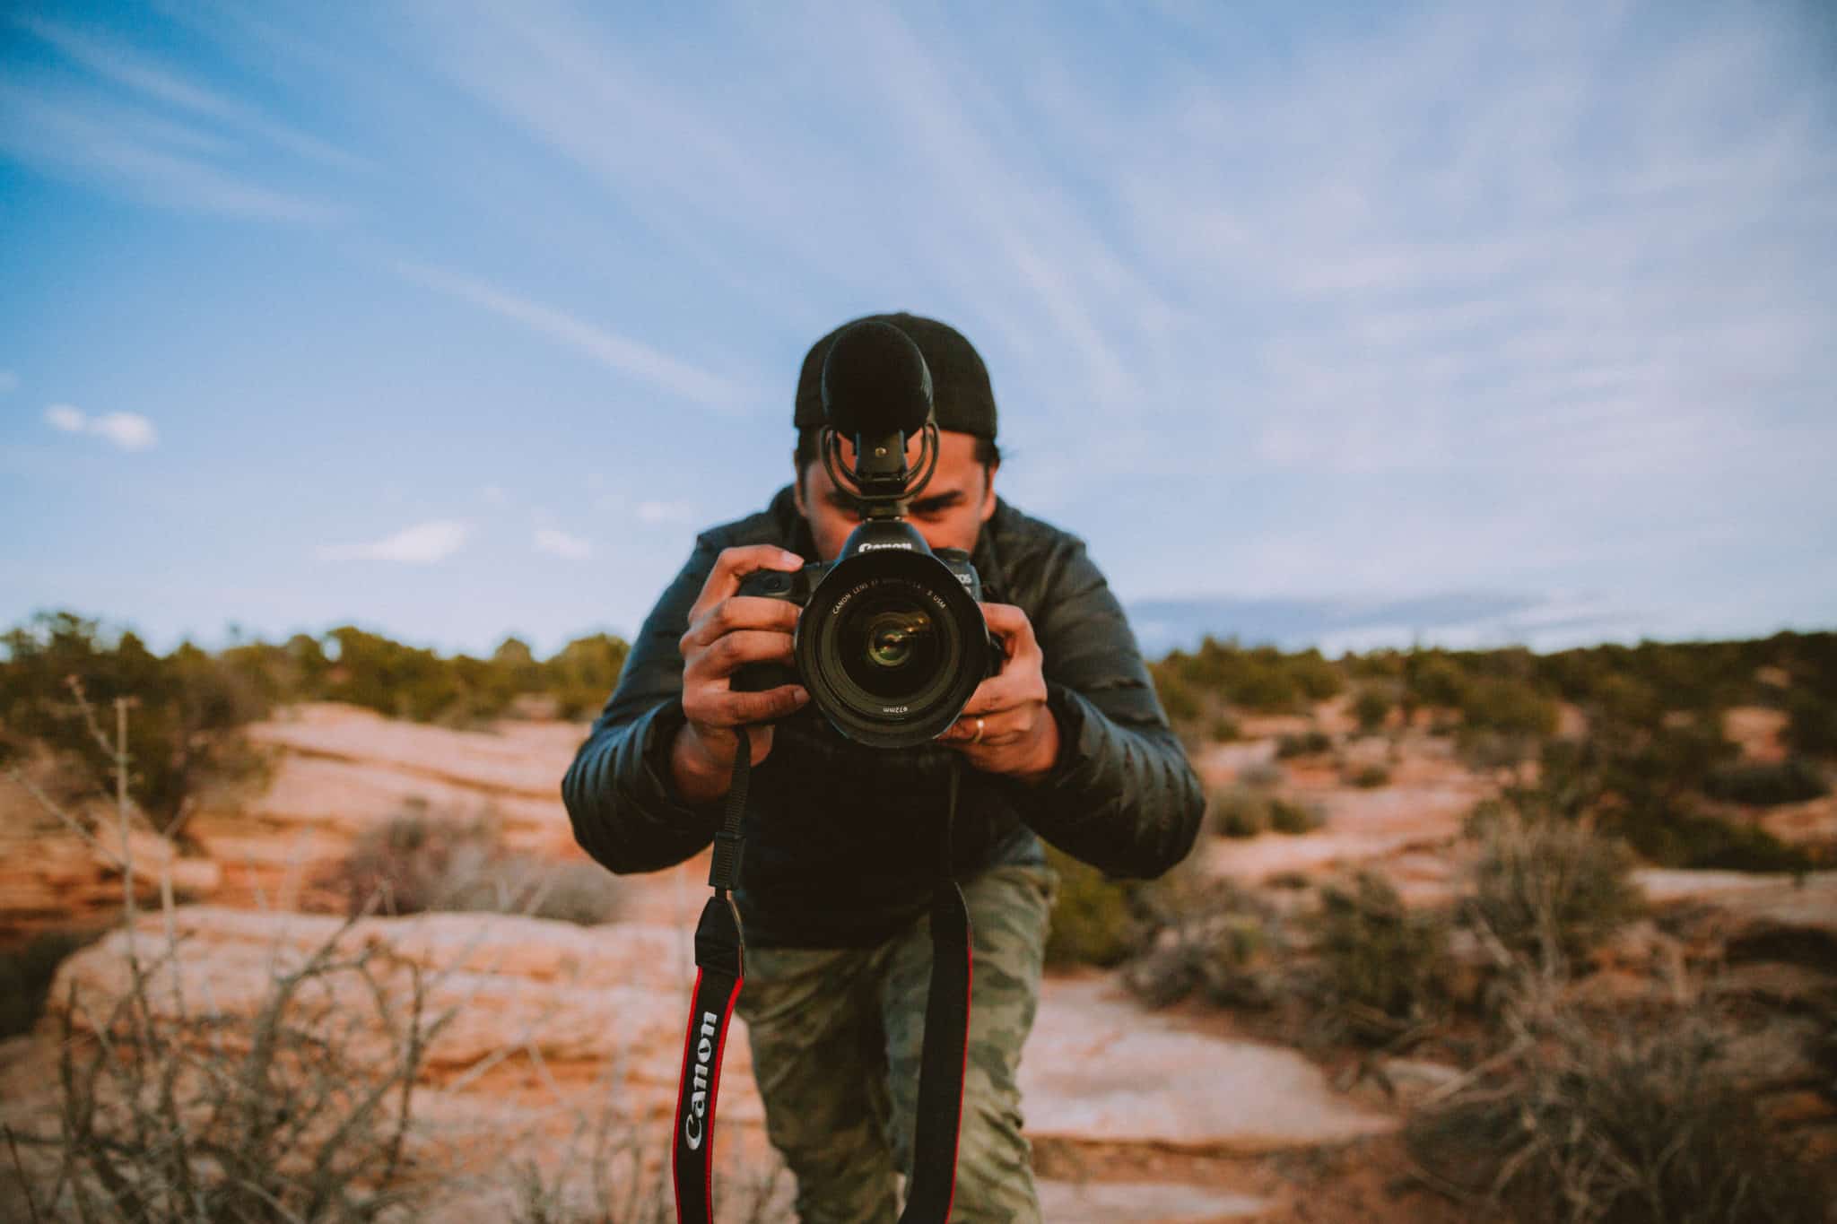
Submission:
<svg viewBox="0 0 1837 1224">
<path fill-rule="evenodd" d="M 733 782 L 707 872 L 715 896 L 702 907 L 702 921 L 694 932 L 694 1000 L 683 1039 L 671 1149 L 678 1224 L 713 1224 L 715 1218 L 715 1096 L 720 1092 L 720 1057 L 727 1044 L 733 1004 L 746 980 L 746 938 L 731 892 L 740 877 L 740 817 L 746 811 L 753 749 L 744 727 L 735 732 L 738 751 L 733 758 Z M 946 1224 L 957 1193 L 972 973 L 970 910 L 950 864 L 961 769 L 961 762 L 952 762 L 939 877 L 931 892 L 931 985 L 926 993 L 924 1046 L 918 1055 L 913 1176 L 900 1224 Z"/>
</svg>

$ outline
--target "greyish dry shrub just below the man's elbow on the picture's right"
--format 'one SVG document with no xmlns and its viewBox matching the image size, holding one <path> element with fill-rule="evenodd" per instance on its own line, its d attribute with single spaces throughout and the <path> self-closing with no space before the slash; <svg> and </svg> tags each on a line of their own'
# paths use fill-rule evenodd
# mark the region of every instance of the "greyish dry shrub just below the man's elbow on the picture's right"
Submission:
<svg viewBox="0 0 1837 1224">
<path fill-rule="evenodd" d="M 1174 873 L 1143 890 L 1137 905 L 1144 951 L 1124 965 L 1122 984 L 1150 1007 L 1183 998 L 1260 1006 L 1282 993 L 1282 919 L 1251 892 Z"/>
</svg>

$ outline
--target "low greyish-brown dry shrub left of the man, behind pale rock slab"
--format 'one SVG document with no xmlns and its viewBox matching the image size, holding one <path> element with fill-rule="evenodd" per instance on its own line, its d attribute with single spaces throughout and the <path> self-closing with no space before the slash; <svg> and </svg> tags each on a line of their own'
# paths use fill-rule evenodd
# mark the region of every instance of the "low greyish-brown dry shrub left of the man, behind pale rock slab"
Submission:
<svg viewBox="0 0 1837 1224">
<path fill-rule="evenodd" d="M 366 829 L 331 883 L 344 886 L 353 914 L 457 910 L 593 927 L 612 921 L 621 901 L 599 864 L 511 853 L 489 813 L 432 815 L 424 802 Z"/>
</svg>

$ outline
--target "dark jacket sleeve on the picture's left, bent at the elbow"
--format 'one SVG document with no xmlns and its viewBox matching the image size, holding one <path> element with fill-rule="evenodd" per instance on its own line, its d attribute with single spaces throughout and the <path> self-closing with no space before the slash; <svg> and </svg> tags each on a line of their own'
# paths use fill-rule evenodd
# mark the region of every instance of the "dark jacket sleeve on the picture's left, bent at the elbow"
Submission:
<svg viewBox="0 0 1837 1224">
<path fill-rule="evenodd" d="M 687 804 L 671 780 L 671 745 L 683 718 L 678 646 L 718 549 L 702 538 L 645 618 L 619 684 L 562 776 L 575 840 L 606 868 L 654 872 L 715 839 L 720 804 Z"/>
</svg>

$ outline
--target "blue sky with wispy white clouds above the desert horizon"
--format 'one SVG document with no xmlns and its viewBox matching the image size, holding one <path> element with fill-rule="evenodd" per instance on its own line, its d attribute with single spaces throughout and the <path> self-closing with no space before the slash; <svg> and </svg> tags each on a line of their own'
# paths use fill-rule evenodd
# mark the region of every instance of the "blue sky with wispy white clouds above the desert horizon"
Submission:
<svg viewBox="0 0 1837 1224">
<path fill-rule="evenodd" d="M 808 343 L 1150 650 L 1837 626 L 1815 4 L 9 6 L 0 622 L 630 633 Z"/>
</svg>

